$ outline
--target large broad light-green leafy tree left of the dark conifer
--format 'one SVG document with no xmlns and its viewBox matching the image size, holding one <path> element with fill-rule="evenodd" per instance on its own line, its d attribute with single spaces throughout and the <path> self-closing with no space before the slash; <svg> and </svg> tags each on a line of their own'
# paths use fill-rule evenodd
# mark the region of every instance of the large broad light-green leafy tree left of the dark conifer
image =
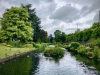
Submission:
<svg viewBox="0 0 100 75">
<path fill-rule="evenodd" d="M 3 41 L 32 40 L 33 29 L 28 21 L 29 15 L 26 8 L 11 7 L 7 9 L 1 19 L 0 37 Z"/>
</svg>

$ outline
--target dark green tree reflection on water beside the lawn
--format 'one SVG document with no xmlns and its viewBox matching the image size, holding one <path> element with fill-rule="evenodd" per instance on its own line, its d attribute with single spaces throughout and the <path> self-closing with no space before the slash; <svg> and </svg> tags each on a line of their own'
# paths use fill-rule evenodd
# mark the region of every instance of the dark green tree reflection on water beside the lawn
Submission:
<svg viewBox="0 0 100 75">
<path fill-rule="evenodd" d="M 38 68 L 39 57 L 33 54 L 11 60 L 0 68 L 0 75 L 32 75 Z"/>
</svg>

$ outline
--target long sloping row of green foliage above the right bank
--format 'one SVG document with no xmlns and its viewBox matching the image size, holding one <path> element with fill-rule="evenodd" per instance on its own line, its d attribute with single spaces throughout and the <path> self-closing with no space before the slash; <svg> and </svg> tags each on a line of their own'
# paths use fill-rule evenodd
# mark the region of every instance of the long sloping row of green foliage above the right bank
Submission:
<svg viewBox="0 0 100 75">
<path fill-rule="evenodd" d="M 66 36 L 66 42 L 85 42 L 89 41 L 91 38 L 99 38 L 100 37 L 100 26 L 99 23 L 94 23 L 91 28 L 85 29 L 83 31 L 78 31 L 73 34 L 69 34 Z"/>
</svg>

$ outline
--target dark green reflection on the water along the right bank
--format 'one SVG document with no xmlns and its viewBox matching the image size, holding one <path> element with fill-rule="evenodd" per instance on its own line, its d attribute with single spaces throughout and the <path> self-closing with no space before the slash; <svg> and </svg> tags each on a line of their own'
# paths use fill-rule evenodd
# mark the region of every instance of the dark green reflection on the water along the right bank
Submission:
<svg viewBox="0 0 100 75">
<path fill-rule="evenodd" d="M 91 71 L 93 70 L 92 74 L 100 75 L 100 62 L 99 61 L 88 59 L 87 57 L 79 55 L 79 54 L 75 54 L 74 52 L 71 52 L 71 55 L 75 56 L 77 61 L 83 62 L 89 70 Z"/>
</svg>

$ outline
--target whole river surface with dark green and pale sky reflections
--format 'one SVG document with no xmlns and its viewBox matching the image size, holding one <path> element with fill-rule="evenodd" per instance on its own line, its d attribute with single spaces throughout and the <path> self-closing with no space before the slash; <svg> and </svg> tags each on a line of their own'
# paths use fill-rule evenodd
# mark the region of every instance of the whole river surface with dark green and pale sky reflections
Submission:
<svg viewBox="0 0 100 75">
<path fill-rule="evenodd" d="M 59 60 L 33 52 L 0 66 L 0 75 L 100 75 L 100 63 L 67 51 Z"/>
</svg>

